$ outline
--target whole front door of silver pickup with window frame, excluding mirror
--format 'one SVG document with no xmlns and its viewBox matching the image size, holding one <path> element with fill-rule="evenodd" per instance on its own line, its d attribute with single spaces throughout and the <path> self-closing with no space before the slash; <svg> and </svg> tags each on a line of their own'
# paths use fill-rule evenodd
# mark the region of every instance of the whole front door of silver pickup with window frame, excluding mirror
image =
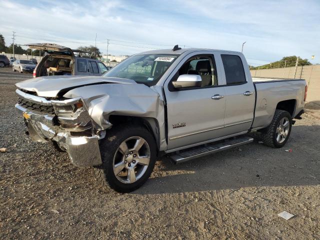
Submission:
<svg viewBox="0 0 320 240">
<path fill-rule="evenodd" d="M 218 84 L 214 55 L 189 56 L 178 66 L 179 70 L 164 87 L 168 150 L 223 135 L 224 87 Z M 200 75 L 201 86 L 173 88 L 171 81 L 181 74 Z"/>
</svg>

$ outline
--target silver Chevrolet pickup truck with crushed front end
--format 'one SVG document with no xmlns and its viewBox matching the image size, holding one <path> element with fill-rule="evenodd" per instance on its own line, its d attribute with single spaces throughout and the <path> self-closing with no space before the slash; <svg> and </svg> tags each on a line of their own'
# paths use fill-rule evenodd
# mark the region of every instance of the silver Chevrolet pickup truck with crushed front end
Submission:
<svg viewBox="0 0 320 240">
<path fill-rule="evenodd" d="M 175 163 L 249 143 L 259 131 L 282 147 L 306 97 L 302 79 L 251 78 L 242 53 L 161 49 L 132 55 L 103 76 L 16 83 L 30 137 L 53 141 L 119 192 L 141 186 L 157 157 Z"/>
</svg>

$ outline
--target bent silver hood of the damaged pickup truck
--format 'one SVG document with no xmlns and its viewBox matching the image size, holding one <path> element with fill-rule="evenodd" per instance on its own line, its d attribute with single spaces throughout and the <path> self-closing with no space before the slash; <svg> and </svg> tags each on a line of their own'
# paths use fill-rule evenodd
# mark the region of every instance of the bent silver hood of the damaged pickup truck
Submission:
<svg viewBox="0 0 320 240">
<path fill-rule="evenodd" d="M 42 76 L 20 81 L 16 87 L 27 91 L 34 91 L 38 96 L 55 97 L 59 92 L 86 85 L 106 83 L 136 84 L 135 81 L 125 78 L 103 76 Z"/>
</svg>

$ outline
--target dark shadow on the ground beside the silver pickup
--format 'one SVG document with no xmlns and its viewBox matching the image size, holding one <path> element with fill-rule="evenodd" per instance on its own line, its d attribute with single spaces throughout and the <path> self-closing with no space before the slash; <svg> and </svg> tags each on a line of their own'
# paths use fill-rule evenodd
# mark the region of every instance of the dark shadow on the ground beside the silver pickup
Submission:
<svg viewBox="0 0 320 240">
<path fill-rule="evenodd" d="M 270 148 L 255 140 L 177 165 L 164 157 L 157 161 L 144 186 L 131 194 L 317 185 L 320 184 L 318 132 L 319 125 L 295 125 L 282 148 Z"/>
</svg>

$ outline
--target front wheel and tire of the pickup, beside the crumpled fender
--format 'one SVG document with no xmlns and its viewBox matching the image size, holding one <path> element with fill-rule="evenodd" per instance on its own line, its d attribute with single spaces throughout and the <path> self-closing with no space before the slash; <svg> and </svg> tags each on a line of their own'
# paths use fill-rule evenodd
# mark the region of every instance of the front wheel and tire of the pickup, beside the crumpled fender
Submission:
<svg viewBox="0 0 320 240">
<path fill-rule="evenodd" d="M 113 126 L 101 139 L 99 147 L 102 165 L 94 167 L 94 173 L 103 185 L 108 184 L 118 192 L 130 192 L 149 178 L 156 160 L 156 145 L 146 128 Z"/>
</svg>

